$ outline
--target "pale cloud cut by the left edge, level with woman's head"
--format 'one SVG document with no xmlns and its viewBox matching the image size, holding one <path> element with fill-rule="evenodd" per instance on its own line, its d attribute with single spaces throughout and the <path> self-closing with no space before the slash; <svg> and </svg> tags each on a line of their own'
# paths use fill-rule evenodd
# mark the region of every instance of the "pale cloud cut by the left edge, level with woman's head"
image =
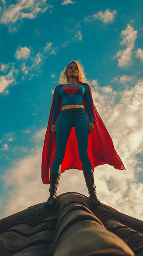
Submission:
<svg viewBox="0 0 143 256">
<path fill-rule="evenodd" d="M 0 93 L 15 81 L 15 78 L 13 77 L 13 74 L 15 73 L 17 73 L 17 70 L 12 67 L 6 76 L 0 76 Z"/>
</svg>

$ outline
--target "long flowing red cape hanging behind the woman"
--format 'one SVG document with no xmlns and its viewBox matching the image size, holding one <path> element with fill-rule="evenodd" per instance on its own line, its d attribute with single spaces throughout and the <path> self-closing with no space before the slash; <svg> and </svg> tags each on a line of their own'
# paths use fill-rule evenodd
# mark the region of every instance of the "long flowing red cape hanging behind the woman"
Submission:
<svg viewBox="0 0 143 256">
<path fill-rule="evenodd" d="M 59 86 L 61 85 L 58 85 L 58 87 Z M 99 165 L 109 164 L 116 169 L 123 170 L 125 169 L 125 167 L 123 166 L 123 163 L 120 157 L 117 155 L 117 152 L 115 151 L 114 145 L 112 143 L 112 139 L 93 104 L 91 88 L 89 85 L 88 87 L 89 87 L 90 97 L 92 102 L 92 112 L 93 112 L 94 127 L 95 127 L 92 133 L 89 134 L 89 139 L 88 139 L 88 156 L 92 164 L 92 169 Z M 51 119 L 52 119 L 52 111 L 54 108 L 54 102 L 55 102 L 55 91 L 53 94 L 48 127 L 45 135 L 45 141 L 44 141 L 43 152 L 42 152 L 41 177 L 44 184 L 50 183 L 51 165 L 55 157 L 56 134 L 53 134 L 51 132 Z M 84 104 L 85 111 L 87 112 L 85 100 L 83 101 L 83 104 Z M 60 106 L 59 113 L 60 111 L 61 111 L 61 106 Z M 79 158 L 78 144 L 77 144 L 74 128 L 72 128 L 71 134 L 67 142 L 65 156 L 61 165 L 61 173 L 67 169 L 83 170 L 82 162 Z"/>
</svg>

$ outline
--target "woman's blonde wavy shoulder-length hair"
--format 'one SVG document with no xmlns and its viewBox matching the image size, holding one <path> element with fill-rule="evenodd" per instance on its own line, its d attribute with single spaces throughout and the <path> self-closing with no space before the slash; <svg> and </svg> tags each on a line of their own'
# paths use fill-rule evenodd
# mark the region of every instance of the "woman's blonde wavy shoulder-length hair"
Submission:
<svg viewBox="0 0 143 256">
<path fill-rule="evenodd" d="M 79 75 L 78 75 L 78 83 L 88 83 L 88 80 L 85 77 L 84 74 L 84 68 L 81 64 L 81 62 L 79 60 L 72 60 L 69 65 L 71 63 L 75 63 L 78 67 L 79 70 Z M 69 77 L 67 76 L 67 71 L 68 71 L 68 67 L 65 67 L 62 71 L 61 71 L 61 76 L 59 77 L 60 79 L 60 84 L 67 84 L 69 82 Z"/>
</svg>

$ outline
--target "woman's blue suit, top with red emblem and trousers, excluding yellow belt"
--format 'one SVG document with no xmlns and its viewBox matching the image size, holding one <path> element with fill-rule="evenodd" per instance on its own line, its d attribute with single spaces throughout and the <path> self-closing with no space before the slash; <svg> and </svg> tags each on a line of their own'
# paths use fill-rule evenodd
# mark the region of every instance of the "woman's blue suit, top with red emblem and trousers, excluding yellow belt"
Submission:
<svg viewBox="0 0 143 256">
<path fill-rule="evenodd" d="M 56 122 L 61 100 L 63 107 L 71 104 L 83 105 L 83 99 L 85 99 L 90 122 L 94 122 L 90 93 L 86 84 L 68 84 L 57 87 L 51 124 Z M 75 127 L 83 171 L 92 172 L 92 165 L 87 153 L 89 119 L 87 113 L 82 108 L 61 111 L 56 124 L 56 154 L 51 167 L 52 174 L 61 172 L 61 163 L 72 127 Z"/>
</svg>

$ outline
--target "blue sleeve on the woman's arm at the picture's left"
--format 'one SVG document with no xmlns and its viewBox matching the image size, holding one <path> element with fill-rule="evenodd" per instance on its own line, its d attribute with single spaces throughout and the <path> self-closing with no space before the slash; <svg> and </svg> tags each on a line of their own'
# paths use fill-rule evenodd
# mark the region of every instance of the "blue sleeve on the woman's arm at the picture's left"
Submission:
<svg viewBox="0 0 143 256">
<path fill-rule="evenodd" d="M 61 104 L 61 95 L 60 95 L 60 90 L 58 87 L 55 90 L 55 105 L 54 105 L 53 112 L 52 112 L 51 124 L 56 122 L 56 119 L 58 117 L 58 113 L 60 110 L 60 104 Z"/>
</svg>

